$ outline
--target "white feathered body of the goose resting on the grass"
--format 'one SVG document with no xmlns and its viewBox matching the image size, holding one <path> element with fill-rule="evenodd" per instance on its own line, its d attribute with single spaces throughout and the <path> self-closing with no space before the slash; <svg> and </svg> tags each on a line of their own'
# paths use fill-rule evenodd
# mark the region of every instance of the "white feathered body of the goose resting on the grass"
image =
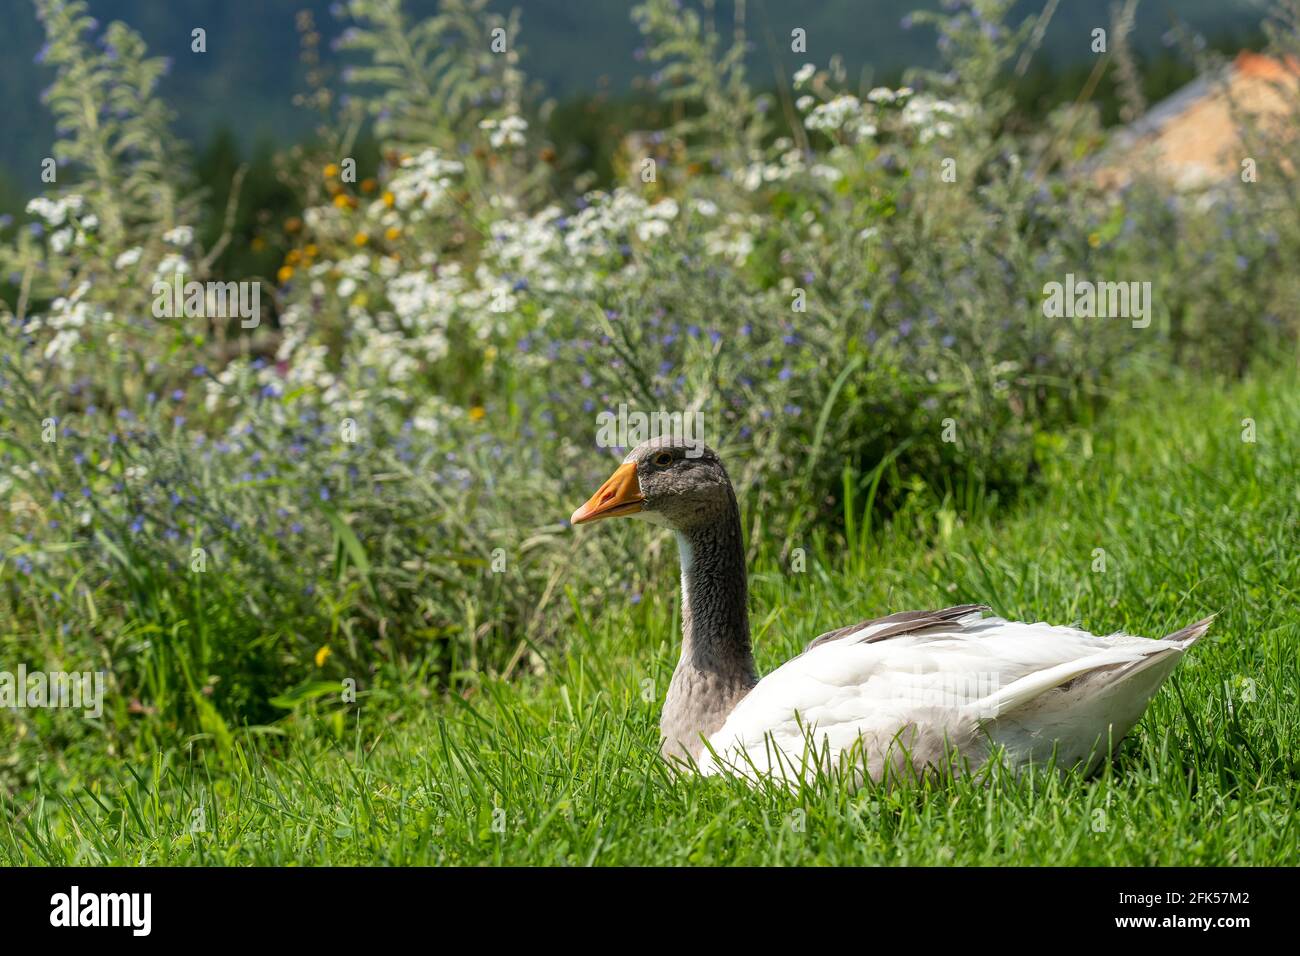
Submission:
<svg viewBox="0 0 1300 956">
<path fill-rule="evenodd" d="M 876 643 L 874 630 L 819 644 L 763 678 L 708 737 L 702 774 L 794 782 L 818 769 L 859 783 L 1056 758 L 1095 767 L 1141 717 L 1209 622 L 1182 640 L 1024 624 L 980 613 Z M 1180 636 L 1184 632 L 1180 632 Z"/>
</svg>

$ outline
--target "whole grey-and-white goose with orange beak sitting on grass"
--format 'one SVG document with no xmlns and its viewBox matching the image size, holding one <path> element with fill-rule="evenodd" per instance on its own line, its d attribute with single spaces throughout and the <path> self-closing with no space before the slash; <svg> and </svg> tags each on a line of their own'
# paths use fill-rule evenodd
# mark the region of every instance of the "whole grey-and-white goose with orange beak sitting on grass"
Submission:
<svg viewBox="0 0 1300 956">
<path fill-rule="evenodd" d="M 572 524 L 633 516 L 670 528 L 681 564 L 681 653 L 660 715 L 679 770 L 788 786 L 858 786 L 1053 765 L 1093 773 L 1213 617 L 1152 640 L 989 615 L 898 611 L 823 633 L 762 680 L 746 607 L 736 493 L 708 446 L 637 445 Z"/>
</svg>

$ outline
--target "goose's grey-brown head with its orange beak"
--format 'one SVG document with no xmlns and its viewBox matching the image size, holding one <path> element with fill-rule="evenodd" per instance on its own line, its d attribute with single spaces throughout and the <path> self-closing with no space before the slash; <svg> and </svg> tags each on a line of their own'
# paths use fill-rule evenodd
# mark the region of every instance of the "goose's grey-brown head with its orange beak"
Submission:
<svg viewBox="0 0 1300 956">
<path fill-rule="evenodd" d="M 628 453 L 569 522 L 629 515 L 688 533 L 727 520 L 734 507 L 736 496 L 716 451 L 698 442 L 651 438 Z"/>
</svg>

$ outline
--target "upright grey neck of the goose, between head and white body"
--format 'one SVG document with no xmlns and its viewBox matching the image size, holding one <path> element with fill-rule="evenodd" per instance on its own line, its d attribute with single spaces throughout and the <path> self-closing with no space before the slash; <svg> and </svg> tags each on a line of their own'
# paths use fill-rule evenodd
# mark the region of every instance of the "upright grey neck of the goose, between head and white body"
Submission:
<svg viewBox="0 0 1300 956">
<path fill-rule="evenodd" d="M 664 698 L 664 754 L 703 752 L 701 735 L 723 726 L 758 683 L 749 643 L 745 545 L 732 497 L 722 520 L 677 532 L 681 658 Z"/>
</svg>

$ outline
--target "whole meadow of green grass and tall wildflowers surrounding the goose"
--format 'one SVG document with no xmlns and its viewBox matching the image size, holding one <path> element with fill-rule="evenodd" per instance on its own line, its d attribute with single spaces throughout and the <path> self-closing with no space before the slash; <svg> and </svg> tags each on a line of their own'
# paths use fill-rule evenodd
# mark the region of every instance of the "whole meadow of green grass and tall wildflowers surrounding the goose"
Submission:
<svg viewBox="0 0 1300 956">
<path fill-rule="evenodd" d="M 516 20 L 350 0 L 332 51 L 302 25 L 299 209 L 234 237 L 162 57 L 36 7 L 61 172 L 0 229 L 0 670 L 107 692 L 0 713 L 0 860 L 1297 862 L 1300 103 L 1242 118 L 1257 178 L 1117 190 L 1086 98 L 1018 117 L 1040 23 L 1006 3 L 918 16 L 945 66 L 909 86 L 823 57 L 770 92 L 650 0 L 671 125 L 595 187 Z M 1268 38 L 1300 53 L 1300 5 Z M 222 271 L 243 241 L 274 274 Z M 1149 324 L 1046 315 L 1067 274 L 1150 282 Z M 265 313 L 160 307 L 182 278 Z M 620 405 L 727 462 L 760 671 L 904 607 L 1218 618 L 1093 779 L 675 778 L 672 538 L 566 520 Z"/>
</svg>

